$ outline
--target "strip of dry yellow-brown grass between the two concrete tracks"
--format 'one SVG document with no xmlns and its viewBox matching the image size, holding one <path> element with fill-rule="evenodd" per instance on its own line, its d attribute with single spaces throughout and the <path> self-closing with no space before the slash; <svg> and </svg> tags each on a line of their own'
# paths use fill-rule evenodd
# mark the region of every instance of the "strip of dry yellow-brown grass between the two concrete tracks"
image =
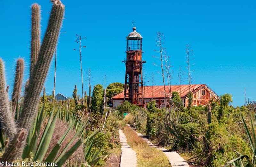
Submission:
<svg viewBox="0 0 256 167">
<path fill-rule="evenodd" d="M 138 167 L 166 167 L 171 166 L 165 154 L 156 148 L 149 147 L 148 144 L 137 135 L 130 127 L 124 127 L 124 134 L 127 142 L 136 152 Z"/>
</svg>

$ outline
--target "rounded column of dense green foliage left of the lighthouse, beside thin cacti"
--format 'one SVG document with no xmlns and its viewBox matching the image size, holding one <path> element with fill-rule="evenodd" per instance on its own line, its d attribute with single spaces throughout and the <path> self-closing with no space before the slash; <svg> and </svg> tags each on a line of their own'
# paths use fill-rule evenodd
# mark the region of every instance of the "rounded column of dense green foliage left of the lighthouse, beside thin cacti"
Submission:
<svg viewBox="0 0 256 167">
<path fill-rule="evenodd" d="M 93 91 L 92 91 L 91 110 L 93 112 L 96 112 L 96 113 L 100 112 L 102 100 L 103 100 L 103 87 L 102 85 L 98 84 L 93 87 Z"/>
</svg>

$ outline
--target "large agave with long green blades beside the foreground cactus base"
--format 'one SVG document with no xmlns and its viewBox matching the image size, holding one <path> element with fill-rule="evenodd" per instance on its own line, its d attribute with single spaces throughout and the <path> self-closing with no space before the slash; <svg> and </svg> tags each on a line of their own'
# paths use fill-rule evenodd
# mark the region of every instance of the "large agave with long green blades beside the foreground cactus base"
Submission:
<svg viewBox="0 0 256 167">
<path fill-rule="evenodd" d="M 57 155 L 60 151 L 60 147 L 61 147 L 62 142 L 64 141 L 64 139 L 67 136 L 67 134 L 69 133 L 69 131 L 74 128 L 75 122 L 73 122 L 71 125 L 69 125 L 67 131 L 63 134 L 63 136 L 60 138 L 58 143 L 51 150 L 50 154 L 45 158 L 46 151 L 49 148 L 49 145 L 50 145 L 50 142 L 51 142 L 51 139 L 52 139 L 55 123 L 56 123 L 56 120 L 57 120 L 57 118 L 59 116 L 59 113 L 60 113 L 59 109 L 57 110 L 55 115 L 53 114 L 53 112 L 54 112 L 54 108 L 53 108 L 53 110 L 51 112 L 51 116 L 50 116 L 50 118 L 49 118 L 49 120 L 46 124 L 43 135 L 42 135 L 42 137 L 39 141 L 39 145 L 37 146 L 37 141 L 39 140 L 40 128 L 41 128 L 41 125 L 42 125 L 42 123 L 45 119 L 45 115 L 46 115 L 46 114 L 44 114 L 44 107 L 39 111 L 39 113 L 37 115 L 37 118 L 34 121 L 33 126 L 30 128 L 30 130 L 28 132 L 27 145 L 24 148 L 23 154 L 22 154 L 23 159 L 28 158 L 29 155 L 32 153 L 34 155 L 34 161 L 43 162 L 43 160 L 45 159 L 45 162 L 56 162 L 56 163 L 58 163 L 59 166 L 61 166 L 62 164 L 64 164 L 67 161 L 67 159 L 82 144 L 82 140 L 79 139 L 74 144 L 73 147 L 68 149 L 69 146 L 73 143 L 73 141 L 77 137 L 79 137 L 79 136 L 81 137 L 80 134 L 84 131 L 84 128 L 88 124 L 89 120 L 87 120 L 84 124 L 77 123 L 78 129 L 76 131 L 76 134 L 68 142 L 68 144 L 65 146 L 65 148 L 61 152 L 61 154 L 57 157 Z M 53 117 L 53 115 L 54 115 L 54 117 Z"/>
</svg>

